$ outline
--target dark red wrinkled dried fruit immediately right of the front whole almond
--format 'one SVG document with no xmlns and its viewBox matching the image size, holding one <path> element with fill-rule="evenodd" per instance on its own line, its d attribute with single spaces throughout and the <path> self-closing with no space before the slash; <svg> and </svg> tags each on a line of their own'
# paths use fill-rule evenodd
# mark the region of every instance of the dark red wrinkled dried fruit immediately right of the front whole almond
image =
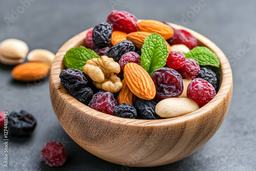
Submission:
<svg viewBox="0 0 256 171">
<path fill-rule="evenodd" d="M 183 92 L 181 75 L 171 68 L 159 68 L 152 74 L 158 98 L 179 97 Z"/>
</svg>

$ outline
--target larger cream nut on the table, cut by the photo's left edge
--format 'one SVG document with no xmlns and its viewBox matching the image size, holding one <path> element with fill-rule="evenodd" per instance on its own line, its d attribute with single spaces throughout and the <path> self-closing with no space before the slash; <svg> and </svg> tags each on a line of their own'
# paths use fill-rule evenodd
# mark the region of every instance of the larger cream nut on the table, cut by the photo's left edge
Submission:
<svg viewBox="0 0 256 171">
<path fill-rule="evenodd" d="M 0 61 L 6 65 L 17 65 L 25 61 L 28 45 L 18 39 L 10 38 L 0 43 Z"/>
</svg>

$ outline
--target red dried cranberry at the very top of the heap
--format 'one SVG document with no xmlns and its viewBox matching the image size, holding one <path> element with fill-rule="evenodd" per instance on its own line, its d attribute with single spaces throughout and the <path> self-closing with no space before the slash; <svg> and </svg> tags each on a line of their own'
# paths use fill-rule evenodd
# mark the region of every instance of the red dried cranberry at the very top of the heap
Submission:
<svg viewBox="0 0 256 171">
<path fill-rule="evenodd" d="M 126 11 L 113 10 L 106 18 L 106 22 L 113 25 L 114 30 L 131 33 L 138 31 L 137 18 Z"/>
</svg>

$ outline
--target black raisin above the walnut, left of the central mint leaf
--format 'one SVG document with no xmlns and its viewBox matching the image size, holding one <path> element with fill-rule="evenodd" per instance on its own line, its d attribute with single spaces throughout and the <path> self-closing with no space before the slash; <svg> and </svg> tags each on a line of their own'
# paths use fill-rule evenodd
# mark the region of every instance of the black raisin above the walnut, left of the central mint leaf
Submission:
<svg viewBox="0 0 256 171">
<path fill-rule="evenodd" d="M 135 51 L 135 46 L 132 43 L 132 41 L 129 40 L 123 40 L 120 41 L 115 46 L 111 47 L 110 50 L 106 52 L 106 56 L 112 57 L 116 62 L 119 62 L 119 59 L 123 54 L 126 52 Z"/>
</svg>

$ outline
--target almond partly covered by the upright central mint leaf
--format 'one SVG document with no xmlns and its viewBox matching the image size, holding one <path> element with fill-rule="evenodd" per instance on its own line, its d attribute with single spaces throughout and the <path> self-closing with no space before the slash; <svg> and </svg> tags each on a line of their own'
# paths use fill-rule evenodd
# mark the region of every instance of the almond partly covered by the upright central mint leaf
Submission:
<svg viewBox="0 0 256 171">
<path fill-rule="evenodd" d="M 145 38 L 150 34 L 152 34 L 152 33 L 148 33 L 145 31 L 136 31 L 136 32 L 127 34 L 126 39 L 129 41 L 132 41 L 133 44 L 136 46 L 136 48 L 141 49 L 144 44 Z M 167 41 L 165 41 L 165 42 L 166 42 L 168 51 L 169 52 L 172 51 L 168 42 Z"/>
</svg>

